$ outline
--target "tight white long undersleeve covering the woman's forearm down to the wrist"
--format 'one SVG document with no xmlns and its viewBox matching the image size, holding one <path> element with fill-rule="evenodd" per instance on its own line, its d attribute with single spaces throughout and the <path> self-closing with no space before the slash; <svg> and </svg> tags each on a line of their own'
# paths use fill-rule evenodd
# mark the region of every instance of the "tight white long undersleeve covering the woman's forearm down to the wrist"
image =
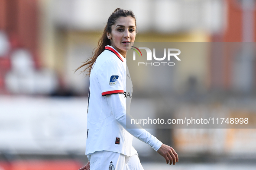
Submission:
<svg viewBox="0 0 256 170">
<path fill-rule="evenodd" d="M 115 120 L 117 120 L 117 122 L 126 129 L 126 119 L 130 120 L 132 119 L 132 116 L 130 114 L 126 114 L 126 103 L 124 96 L 122 94 L 108 95 L 107 102 L 111 108 Z M 135 127 L 133 129 L 126 130 L 137 139 L 151 146 L 155 151 L 158 151 L 158 149 L 162 146 L 162 142 L 145 129 Z"/>
</svg>

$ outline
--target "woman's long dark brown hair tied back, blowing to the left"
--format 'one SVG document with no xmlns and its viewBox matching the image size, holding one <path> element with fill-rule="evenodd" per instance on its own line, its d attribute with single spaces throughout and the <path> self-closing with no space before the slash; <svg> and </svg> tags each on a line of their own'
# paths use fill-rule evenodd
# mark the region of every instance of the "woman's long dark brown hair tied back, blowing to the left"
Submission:
<svg viewBox="0 0 256 170">
<path fill-rule="evenodd" d="M 93 55 L 91 58 L 87 59 L 84 64 L 82 64 L 81 66 L 79 66 L 75 72 L 86 66 L 85 69 L 82 71 L 82 72 L 89 72 L 87 73 L 86 75 L 89 75 L 91 74 L 91 68 L 92 68 L 92 65 L 94 64 L 94 62 L 96 61 L 97 57 L 105 50 L 105 46 L 106 45 L 110 45 L 110 39 L 107 38 L 107 32 L 110 32 L 111 33 L 111 26 L 115 24 L 116 20 L 121 17 L 121 16 L 131 16 L 134 20 L 135 20 L 135 26 L 136 26 L 136 18 L 135 18 L 135 15 L 133 13 L 133 11 L 131 10 L 124 10 L 124 9 L 120 9 L 120 8 L 117 8 L 113 13 L 111 13 L 111 15 L 109 16 L 108 20 L 107 20 L 107 25 L 105 26 L 104 28 L 104 31 L 101 35 L 101 38 L 98 42 L 98 45 L 96 48 L 94 48 L 94 52 L 93 52 Z M 89 69 L 89 71 L 87 70 Z"/>
</svg>

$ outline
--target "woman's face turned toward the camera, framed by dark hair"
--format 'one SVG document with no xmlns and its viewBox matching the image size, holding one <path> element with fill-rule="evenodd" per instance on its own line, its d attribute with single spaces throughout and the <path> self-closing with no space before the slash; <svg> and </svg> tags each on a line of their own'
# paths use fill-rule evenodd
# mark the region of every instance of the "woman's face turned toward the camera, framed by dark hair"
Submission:
<svg viewBox="0 0 256 170">
<path fill-rule="evenodd" d="M 126 51 L 131 48 L 131 42 L 134 42 L 136 36 L 135 19 L 131 16 L 119 17 L 111 28 L 111 33 L 107 32 L 111 46 L 126 57 Z"/>
</svg>

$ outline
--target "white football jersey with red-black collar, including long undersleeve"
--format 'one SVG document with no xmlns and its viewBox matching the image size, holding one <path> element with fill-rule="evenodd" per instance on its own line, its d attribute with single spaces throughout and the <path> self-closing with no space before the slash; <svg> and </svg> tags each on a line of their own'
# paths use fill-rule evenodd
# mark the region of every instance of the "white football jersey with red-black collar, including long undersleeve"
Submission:
<svg viewBox="0 0 256 170">
<path fill-rule="evenodd" d="M 130 110 L 132 92 L 133 85 L 126 59 L 113 47 L 106 46 L 91 69 L 87 155 L 95 151 L 113 151 L 132 156 L 136 154 L 132 147 L 133 136 L 156 151 L 161 147 L 162 142 L 145 129 L 125 129 L 126 100 L 129 100 L 127 110 Z"/>
</svg>

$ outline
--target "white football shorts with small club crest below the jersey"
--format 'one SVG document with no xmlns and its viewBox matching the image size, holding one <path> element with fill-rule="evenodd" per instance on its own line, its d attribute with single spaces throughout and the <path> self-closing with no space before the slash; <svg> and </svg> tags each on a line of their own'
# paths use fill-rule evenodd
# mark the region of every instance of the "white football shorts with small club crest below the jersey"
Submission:
<svg viewBox="0 0 256 170">
<path fill-rule="evenodd" d="M 87 157 L 90 170 L 144 170 L 137 153 L 127 157 L 117 152 L 96 151 Z"/>
</svg>

